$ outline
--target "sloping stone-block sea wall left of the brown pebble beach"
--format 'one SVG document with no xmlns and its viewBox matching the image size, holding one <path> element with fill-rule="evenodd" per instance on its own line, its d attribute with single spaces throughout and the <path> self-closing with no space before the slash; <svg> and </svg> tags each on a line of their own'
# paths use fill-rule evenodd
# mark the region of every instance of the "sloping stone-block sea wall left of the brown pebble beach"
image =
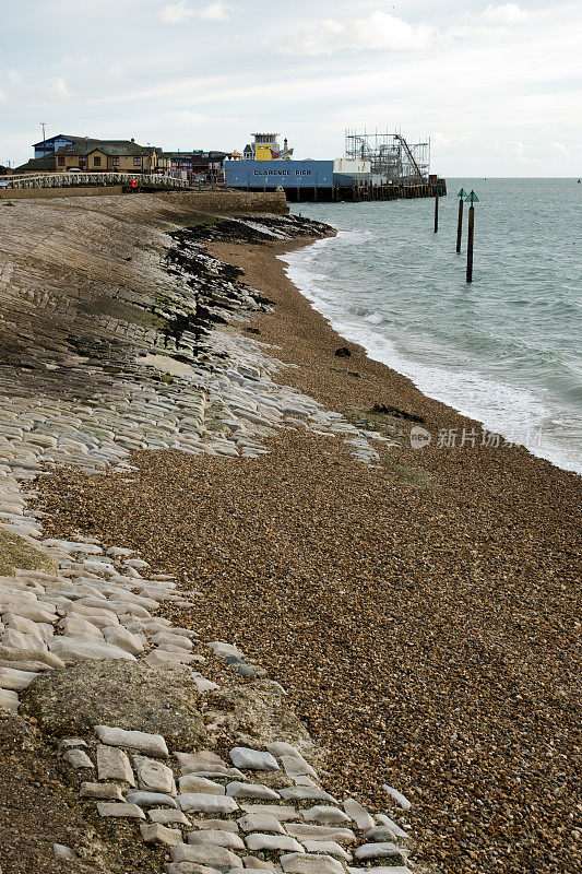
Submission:
<svg viewBox="0 0 582 874">
<path fill-rule="evenodd" d="M 330 794 L 285 690 L 233 641 L 164 617 L 168 602 L 195 616 L 195 591 L 124 544 L 47 539 L 28 508 L 35 479 L 62 464 L 131 476 L 134 449 L 236 463 L 281 428 L 378 459 L 380 434 L 284 385 L 276 350 L 246 332 L 270 302 L 204 248 L 326 228 L 185 228 L 179 197 L 0 213 L 0 527 L 49 563 L 0 577 L 0 708 L 36 727 L 93 826 L 55 841 L 63 870 L 407 874 L 408 801 L 390 789 L 395 822 Z"/>
</svg>

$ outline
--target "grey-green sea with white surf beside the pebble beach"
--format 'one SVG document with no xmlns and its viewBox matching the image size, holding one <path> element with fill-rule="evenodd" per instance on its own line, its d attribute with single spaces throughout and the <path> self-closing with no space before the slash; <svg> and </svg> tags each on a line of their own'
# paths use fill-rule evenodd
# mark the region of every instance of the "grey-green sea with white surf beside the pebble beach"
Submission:
<svg viewBox="0 0 582 874">
<path fill-rule="evenodd" d="M 438 233 L 432 198 L 292 204 L 337 236 L 282 256 L 288 276 L 370 358 L 482 424 L 473 442 L 430 439 L 518 444 L 582 474 L 582 184 L 447 184 Z M 472 283 L 461 188 L 478 197 Z"/>
</svg>

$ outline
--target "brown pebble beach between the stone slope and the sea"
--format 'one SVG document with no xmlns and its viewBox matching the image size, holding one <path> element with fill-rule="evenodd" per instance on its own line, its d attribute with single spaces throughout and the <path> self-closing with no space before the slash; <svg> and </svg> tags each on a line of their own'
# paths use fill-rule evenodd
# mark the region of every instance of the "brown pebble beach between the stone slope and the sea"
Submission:
<svg viewBox="0 0 582 874">
<path fill-rule="evenodd" d="M 391 816 L 382 784 L 403 792 L 419 862 L 573 871 L 580 480 L 482 447 L 477 423 L 340 338 L 287 280 L 284 249 L 211 247 L 274 302 L 252 328 L 297 365 L 281 381 L 393 438 L 375 444 L 381 464 L 301 428 L 259 459 L 139 452 L 130 481 L 43 477 L 59 510 L 47 528 L 139 548 L 202 591 L 168 618 L 269 669 L 326 747 L 331 791 Z M 429 448 L 411 447 L 415 424 Z M 451 429 L 458 445 L 439 448 Z"/>
</svg>

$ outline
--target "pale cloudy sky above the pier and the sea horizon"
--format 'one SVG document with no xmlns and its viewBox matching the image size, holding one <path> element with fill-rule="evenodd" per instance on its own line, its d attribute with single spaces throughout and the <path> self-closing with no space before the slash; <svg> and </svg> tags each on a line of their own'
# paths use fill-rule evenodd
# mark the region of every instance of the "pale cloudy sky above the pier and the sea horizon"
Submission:
<svg viewBox="0 0 582 874">
<path fill-rule="evenodd" d="M 447 176 L 582 174 L 582 5 L 561 0 L 0 0 L 0 163 L 73 133 L 168 150 L 346 127 L 431 137 Z"/>
</svg>

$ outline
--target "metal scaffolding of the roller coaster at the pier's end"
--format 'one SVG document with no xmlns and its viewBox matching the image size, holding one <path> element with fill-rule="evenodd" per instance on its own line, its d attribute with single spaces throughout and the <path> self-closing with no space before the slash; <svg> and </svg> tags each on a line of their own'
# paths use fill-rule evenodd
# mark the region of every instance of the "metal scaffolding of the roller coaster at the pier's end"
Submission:
<svg viewBox="0 0 582 874">
<path fill-rule="evenodd" d="M 430 170 L 430 138 L 424 143 L 408 143 L 401 133 L 356 133 L 346 129 L 345 156 L 369 161 L 372 176 L 419 182 L 428 179 Z"/>
</svg>

